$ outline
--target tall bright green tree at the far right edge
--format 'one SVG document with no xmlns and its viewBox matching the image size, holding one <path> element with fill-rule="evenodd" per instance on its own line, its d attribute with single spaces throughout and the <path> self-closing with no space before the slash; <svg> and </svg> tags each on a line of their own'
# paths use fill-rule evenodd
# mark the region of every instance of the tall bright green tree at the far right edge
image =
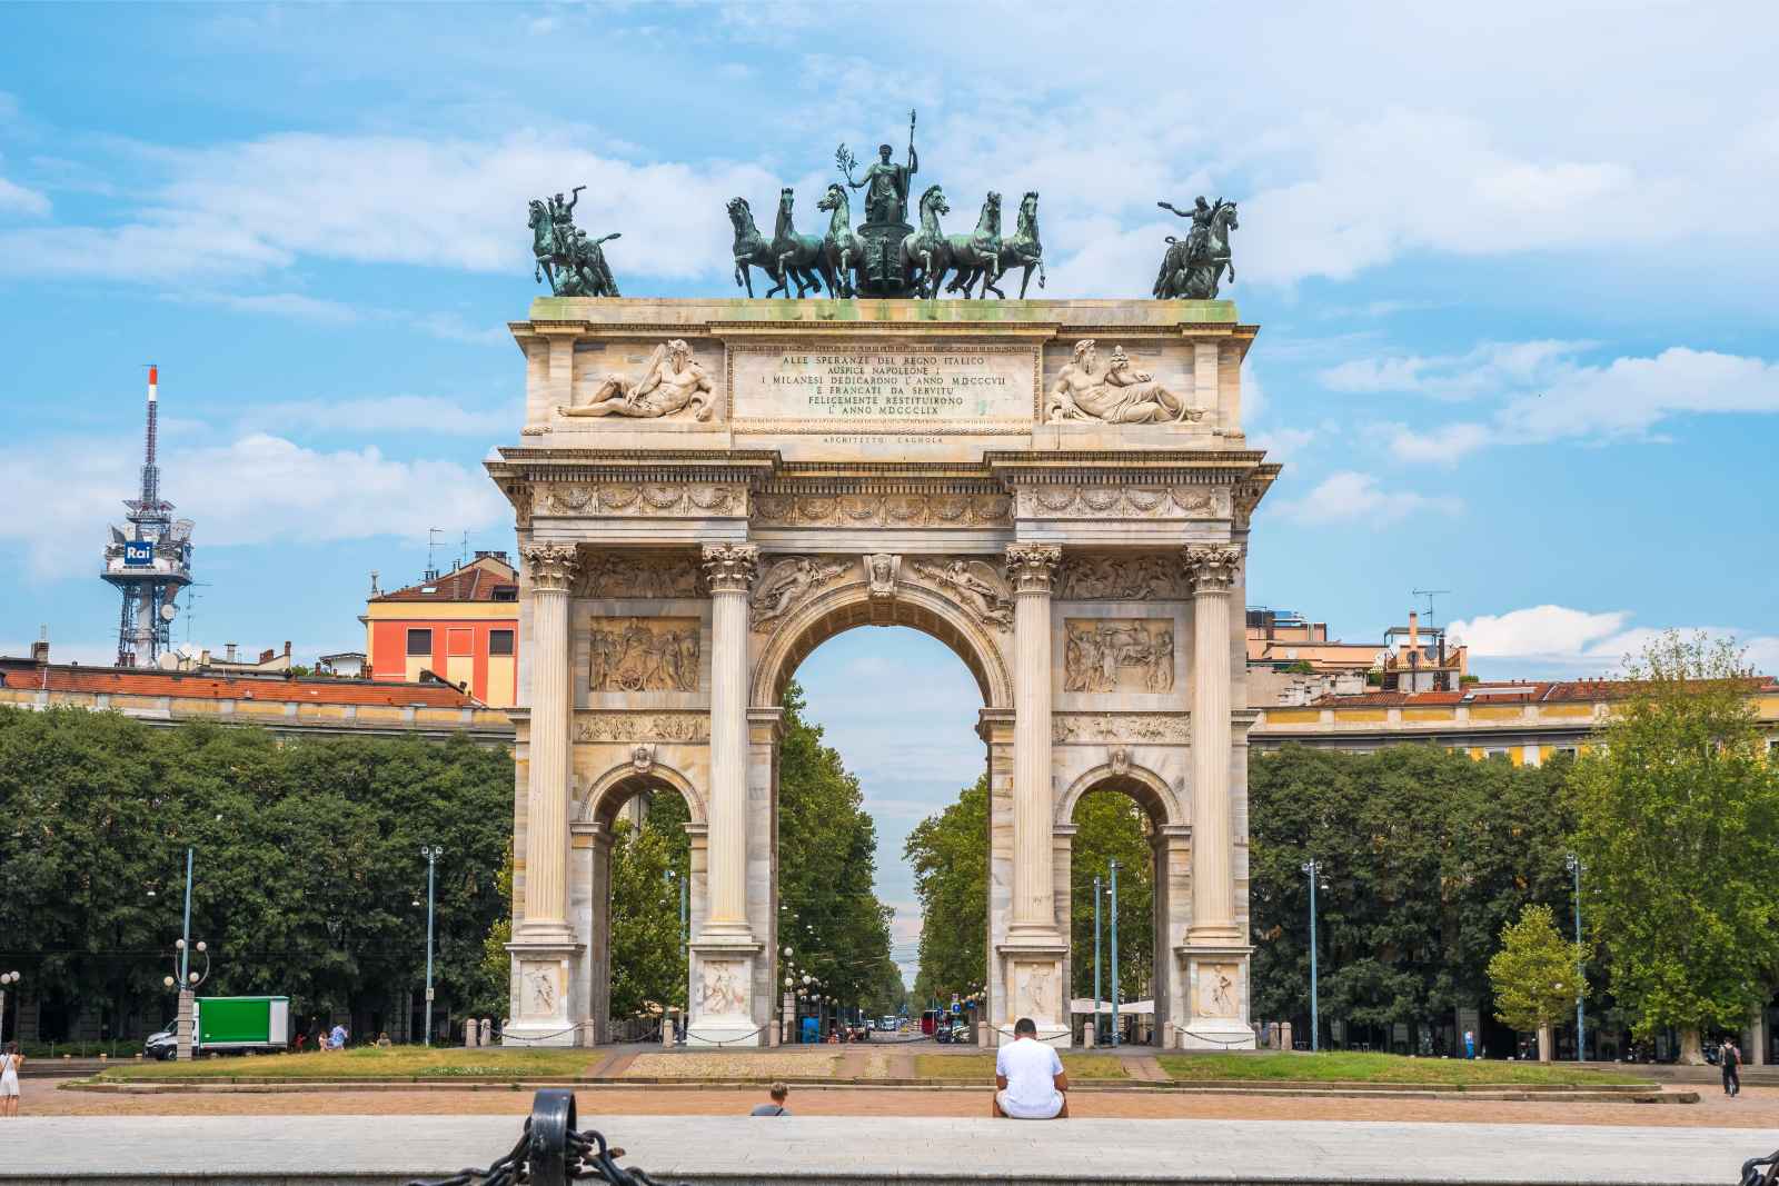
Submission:
<svg viewBox="0 0 1779 1186">
<path fill-rule="evenodd" d="M 1779 766 L 1729 642 L 1674 631 L 1626 663 L 1630 695 L 1569 782 L 1612 992 L 1638 1037 L 1740 1026 L 1779 967 Z"/>
</svg>

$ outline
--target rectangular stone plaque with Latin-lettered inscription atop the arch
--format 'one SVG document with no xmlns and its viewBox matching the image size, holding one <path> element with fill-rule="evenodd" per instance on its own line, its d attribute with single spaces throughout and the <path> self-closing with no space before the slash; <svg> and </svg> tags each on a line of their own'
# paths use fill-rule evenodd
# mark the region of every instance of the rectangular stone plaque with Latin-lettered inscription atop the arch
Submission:
<svg viewBox="0 0 1779 1186">
<path fill-rule="evenodd" d="M 737 421 L 822 432 L 1030 427 L 1037 372 L 1037 347 L 1023 345 L 729 345 Z"/>
</svg>

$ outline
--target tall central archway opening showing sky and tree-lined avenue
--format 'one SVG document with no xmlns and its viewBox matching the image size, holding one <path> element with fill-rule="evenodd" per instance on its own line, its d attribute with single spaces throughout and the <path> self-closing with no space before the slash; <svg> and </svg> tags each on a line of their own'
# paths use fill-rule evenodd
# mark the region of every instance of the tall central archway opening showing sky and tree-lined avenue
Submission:
<svg viewBox="0 0 1779 1186">
<path fill-rule="evenodd" d="M 950 1015 L 954 998 L 973 1035 L 986 987 L 977 722 L 991 674 L 938 615 L 873 622 L 870 608 L 831 613 L 785 653 L 795 677 L 781 699 L 776 983 L 788 1040 L 890 1017 L 907 1019 L 902 1037 L 920 1035 L 923 1015 L 936 1028 L 932 1014 Z M 941 918 L 925 918 L 934 902 Z M 881 928 L 866 925 L 873 912 Z"/>
</svg>

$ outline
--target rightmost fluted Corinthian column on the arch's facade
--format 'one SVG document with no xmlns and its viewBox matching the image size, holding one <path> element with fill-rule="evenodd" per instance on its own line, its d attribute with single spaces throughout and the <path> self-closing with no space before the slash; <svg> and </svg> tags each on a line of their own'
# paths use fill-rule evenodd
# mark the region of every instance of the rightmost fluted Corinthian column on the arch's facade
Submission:
<svg viewBox="0 0 1779 1186">
<path fill-rule="evenodd" d="M 1238 942 L 1229 827 L 1229 589 L 1242 549 L 1190 546 L 1192 581 L 1192 928 L 1188 942 Z"/>
</svg>

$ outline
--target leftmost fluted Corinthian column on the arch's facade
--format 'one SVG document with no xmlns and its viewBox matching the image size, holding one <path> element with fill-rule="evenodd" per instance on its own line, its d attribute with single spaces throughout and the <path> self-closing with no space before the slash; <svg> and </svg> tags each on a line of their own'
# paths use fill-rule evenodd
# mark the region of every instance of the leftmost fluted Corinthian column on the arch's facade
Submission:
<svg viewBox="0 0 1779 1186">
<path fill-rule="evenodd" d="M 568 590 L 573 544 L 525 544 L 532 581 L 532 727 L 525 782 L 525 939 L 571 939 L 568 925 Z"/>
</svg>

